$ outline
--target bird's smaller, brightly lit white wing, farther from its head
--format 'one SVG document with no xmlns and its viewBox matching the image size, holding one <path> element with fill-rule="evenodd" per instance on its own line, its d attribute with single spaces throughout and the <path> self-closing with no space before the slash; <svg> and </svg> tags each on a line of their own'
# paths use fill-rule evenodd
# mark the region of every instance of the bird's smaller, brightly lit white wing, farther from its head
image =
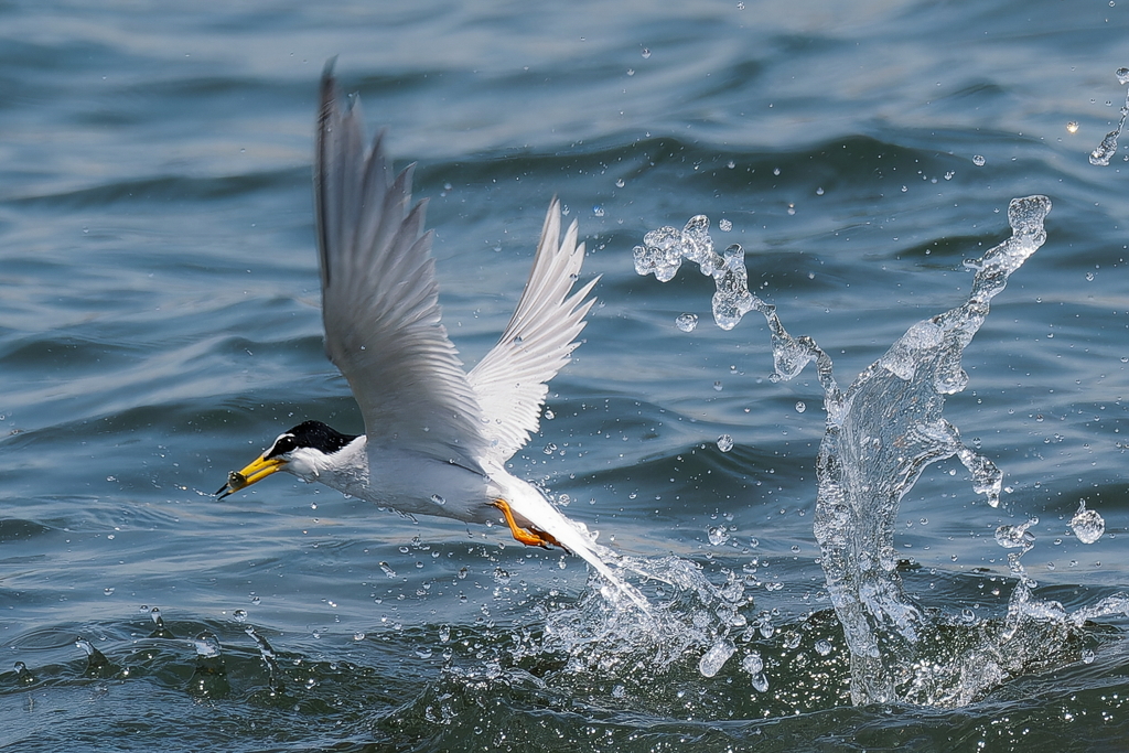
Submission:
<svg viewBox="0 0 1129 753">
<path fill-rule="evenodd" d="M 595 303 L 585 298 L 596 280 L 569 296 L 584 263 L 584 244 L 576 243 L 576 220 L 563 240 L 560 227 L 561 207 L 554 198 L 517 310 L 498 344 L 467 375 L 482 409 L 487 452 L 501 461 L 537 430 L 548 382 L 568 364 Z"/>
</svg>

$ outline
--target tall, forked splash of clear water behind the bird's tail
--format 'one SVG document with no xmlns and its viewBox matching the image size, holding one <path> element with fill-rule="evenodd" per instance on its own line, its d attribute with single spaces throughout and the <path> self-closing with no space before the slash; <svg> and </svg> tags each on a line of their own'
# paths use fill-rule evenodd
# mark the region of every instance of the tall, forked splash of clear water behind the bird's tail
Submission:
<svg viewBox="0 0 1129 753">
<path fill-rule="evenodd" d="M 961 354 L 984 322 L 991 299 L 1043 245 L 1043 218 L 1050 209 L 1045 196 L 1013 200 L 1012 237 L 965 262 L 975 272 L 968 299 L 910 326 L 846 391 L 834 379 L 831 358 L 811 338 L 788 334 L 776 307 L 749 291 L 739 246 L 730 246 L 724 257 L 712 253 L 706 217 L 692 218 L 681 231 L 664 227 L 648 233 L 634 248 L 639 274 L 665 281 L 683 260 L 711 274 L 717 283 L 714 316 L 723 330 L 733 329 L 750 310 L 760 312 L 772 341 L 774 379 L 790 379 L 816 362 L 826 423 L 816 458 L 814 532 L 850 650 L 856 703 L 969 703 L 1018 674 L 1070 660 L 1084 620 L 1129 606 L 1129 597 L 1118 595 L 1071 615 L 1057 602 L 1035 598 L 1038 584 L 1021 558 L 1034 545 L 1030 528 L 1038 519 L 996 532 L 997 543 L 1010 550 L 1007 561 L 1016 580 L 1001 618 L 925 608 L 907 595 L 898 572 L 893 534 L 899 502 L 928 465 L 957 457 L 972 475 L 973 491 L 988 505 L 999 505 L 1001 472 L 965 446 L 942 412 L 945 396 L 969 382 Z M 1101 516 L 1089 513 L 1083 508 L 1075 516 L 1082 541 L 1095 532 L 1100 536 L 1104 525 L 1099 525 Z M 702 673 L 729 653 L 728 645 L 715 642 L 702 657 Z"/>
</svg>

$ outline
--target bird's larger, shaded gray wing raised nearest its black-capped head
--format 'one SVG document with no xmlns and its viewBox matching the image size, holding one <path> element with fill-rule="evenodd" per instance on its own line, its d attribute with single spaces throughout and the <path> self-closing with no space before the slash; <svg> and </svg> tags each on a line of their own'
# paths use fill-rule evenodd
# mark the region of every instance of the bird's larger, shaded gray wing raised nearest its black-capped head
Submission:
<svg viewBox="0 0 1129 753">
<path fill-rule="evenodd" d="M 349 380 L 369 441 L 476 469 L 485 440 L 474 391 L 439 323 L 426 202 L 394 180 L 379 134 L 366 154 L 360 102 L 322 75 L 314 201 L 325 350 Z"/>
</svg>

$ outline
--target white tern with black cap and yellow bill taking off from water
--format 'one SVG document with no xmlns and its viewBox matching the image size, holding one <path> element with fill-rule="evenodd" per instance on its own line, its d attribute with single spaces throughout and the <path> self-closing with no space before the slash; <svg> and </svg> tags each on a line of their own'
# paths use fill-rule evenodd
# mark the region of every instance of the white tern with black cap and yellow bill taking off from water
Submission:
<svg viewBox="0 0 1129 753">
<path fill-rule="evenodd" d="M 611 550 L 506 470 L 537 431 L 548 382 L 571 359 L 596 300 L 598 277 L 572 291 L 585 256 L 578 222 L 561 237 L 553 196 L 509 324 L 464 371 L 441 323 L 427 200 L 411 203 L 414 165 L 393 177 L 384 131 L 366 149 L 360 98 L 342 105 L 332 60 L 320 98 L 314 203 L 325 351 L 352 389 L 365 434 L 304 421 L 229 473 L 216 496 L 285 471 L 409 516 L 505 520 L 518 542 L 584 558 L 645 606 L 609 567 Z"/>
</svg>

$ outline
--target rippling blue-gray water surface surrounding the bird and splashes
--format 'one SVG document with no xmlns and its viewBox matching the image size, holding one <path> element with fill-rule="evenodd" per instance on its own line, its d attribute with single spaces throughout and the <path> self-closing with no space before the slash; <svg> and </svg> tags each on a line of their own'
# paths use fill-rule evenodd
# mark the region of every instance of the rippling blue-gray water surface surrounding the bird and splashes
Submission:
<svg viewBox="0 0 1129 753">
<path fill-rule="evenodd" d="M 846 383 L 963 301 L 961 262 L 1009 234 L 1012 198 L 1049 195 L 1048 240 L 946 406 L 1004 471 L 1003 505 L 940 463 L 895 544 L 921 603 L 977 616 L 1014 585 L 996 528 L 1032 516 L 1040 597 L 1129 588 L 1129 151 L 1087 160 L 1124 102 L 1129 2 L 390 6 L 0 5 L 0 747 L 1124 746 L 1123 618 L 957 710 L 849 704 L 812 533 L 814 373 L 770 382 L 762 322 L 718 330 L 709 280 L 640 278 L 631 248 L 709 214 Z M 360 429 L 322 353 L 313 238 L 333 55 L 397 165 L 419 163 L 467 362 L 505 325 L 552 194 L 580 220 L 601 304 L 514 469 L 622 552 L 716 583 L 755 570 L 749 620 L 790 647 L 764 638 L 767 691 L 736 658 L 714 677 L 697 657 L 563 668 L 536 648 L 592 596 L 586 568 L 498 529 L 289 478 L 210 497 L 299 420 Z M 1083 498 L 1106 524 L 1091 545 L 1069 532 Z M 149 638 L 154 606 L 177 639 L 215 633 L 226 674 Z M 79 636 L 110 665 L 88 667 Z"/>
</svg>

